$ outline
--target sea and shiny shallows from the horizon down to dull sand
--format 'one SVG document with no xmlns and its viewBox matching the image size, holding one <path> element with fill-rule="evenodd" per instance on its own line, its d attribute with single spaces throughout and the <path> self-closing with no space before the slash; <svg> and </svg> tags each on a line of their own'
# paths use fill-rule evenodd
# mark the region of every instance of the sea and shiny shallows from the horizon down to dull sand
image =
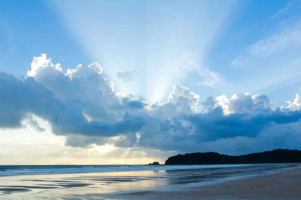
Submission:
<svg viewBox="0 0 301 200">
<path fill-rule="evenodd" d="M 192 185 L 273 173 L 298 164 L 1 165 L 0 199 L 126 199 L 129 191 Z"/>
</svg>

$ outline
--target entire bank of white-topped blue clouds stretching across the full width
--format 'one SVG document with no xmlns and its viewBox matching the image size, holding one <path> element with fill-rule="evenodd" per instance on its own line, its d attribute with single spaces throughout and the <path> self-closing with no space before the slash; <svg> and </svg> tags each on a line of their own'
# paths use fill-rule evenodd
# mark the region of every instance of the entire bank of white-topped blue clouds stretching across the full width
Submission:
<svg viewBox="0 0 301 200">
<path fill-rule="evenodd" d="M 248 142 L 263 141 L 273 148 L 292 143 L 301 147 L 295 142 L 301 141 L 299 94 L 286 107 L 249 93 L 208 97 L 200 103 L 191 88 L 174 85 L 167 101 L 156 103 L 115 92 L 96 62 L 62 71 L 42 54 L 34 57 L 24 79 L 0 72 L 0 127 L 20 128 L 28 120 L 43 131 L 35 115 L 48 121 L 54 134 L 65 136 L 65 145 L 85 148 L 237 153 L 259 150 Z"/>
</svg>

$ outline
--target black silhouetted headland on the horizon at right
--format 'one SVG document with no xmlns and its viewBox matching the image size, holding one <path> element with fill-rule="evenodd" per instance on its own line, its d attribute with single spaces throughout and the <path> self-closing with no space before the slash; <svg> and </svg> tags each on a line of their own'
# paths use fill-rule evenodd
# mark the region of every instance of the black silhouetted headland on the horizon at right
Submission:
<svg viewBox="0 0 301 200">
<path fill-rule="evenodd" d="M 227 155 L 217 152 L 197 152 L 169 157 L 165 164 L 248 164 L 248 163 L 297 163 L 301 150 L 275 149 L 246 155 Z"/>
</svg>

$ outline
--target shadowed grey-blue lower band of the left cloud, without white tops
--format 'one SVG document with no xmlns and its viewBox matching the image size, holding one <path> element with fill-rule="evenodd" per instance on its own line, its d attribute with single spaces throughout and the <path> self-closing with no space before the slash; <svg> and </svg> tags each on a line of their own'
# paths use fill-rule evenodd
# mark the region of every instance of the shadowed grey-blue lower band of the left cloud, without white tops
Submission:
<svg viewBox="0 0 301 200">
<path fill-rule="evenodd" d="M 59 100 L 54 92 L 32 77 L 21 80 L 0 72 L 0 93 L 2 94 L 0 99 L 2 127 L 21 127 L 21 121 L 27 118 L 28 113 L 51 122 L 54 133 L 59 135 L 78 133 L 115 136 L 120 133 L 136 132 L 145 123 L 143 117 L 128 112 L 119 116 L 120 120 L 88 122 L 82 111 L 87 106 L 84 102 L 80 99 L 76 102 Z M 107 113 L 102 117 L 106 115 Z"/>
</svg>

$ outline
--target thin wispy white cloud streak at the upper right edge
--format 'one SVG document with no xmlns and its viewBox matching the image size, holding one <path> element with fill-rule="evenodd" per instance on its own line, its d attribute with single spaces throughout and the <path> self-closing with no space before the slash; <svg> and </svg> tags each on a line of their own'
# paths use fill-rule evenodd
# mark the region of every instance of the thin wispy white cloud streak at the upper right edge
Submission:
<svg viewBox="0 0 301 200">
<path fill-rule="evenodd" d="M 300 1 L 301 2 L 301 1 Z M 269 55 L 281 52 L 277 54 L 277 60 L 285 61 L 285 65 L 291 63 L 287 62 L 288 56 L 293 56 L 296 49 L 301 47 L 301 20 L 300 18 L 293 18 L 287 20 L 285 23 L 283 20 L 272 29 L 276 29 L 272 34 L 262 37 L 260 40 L 251 43 L 246 46 L 243 52 L 239 56 L 234 57 L 230 62 L 230 67 L 247 66 L 250 64 L 252 68 L 256 65 L 260 66 L 260 63 L 273 63 L 274 57 Z M 283 57 L 283 58 L 282 58 Z M 262 59 L 263 58 L 263 59 Z M 282 58 L 282 59 L 281 59 Z M 292 60 L 293 57 L 290 58 Z M 298 59 L 298 57 L 294 57 Z M 252 60 L 255 60 L 252 62 Z M 260 62 L 259 62 L 260 61 Z M 279 63 L 276 62 L 273 68 Z M 282 66 L 281 66 L 282 67 Z M 286 66 L 287 67 L 287 66 Z M 261 67 L 260 67 L 261 68 Z"/>
</svg>

